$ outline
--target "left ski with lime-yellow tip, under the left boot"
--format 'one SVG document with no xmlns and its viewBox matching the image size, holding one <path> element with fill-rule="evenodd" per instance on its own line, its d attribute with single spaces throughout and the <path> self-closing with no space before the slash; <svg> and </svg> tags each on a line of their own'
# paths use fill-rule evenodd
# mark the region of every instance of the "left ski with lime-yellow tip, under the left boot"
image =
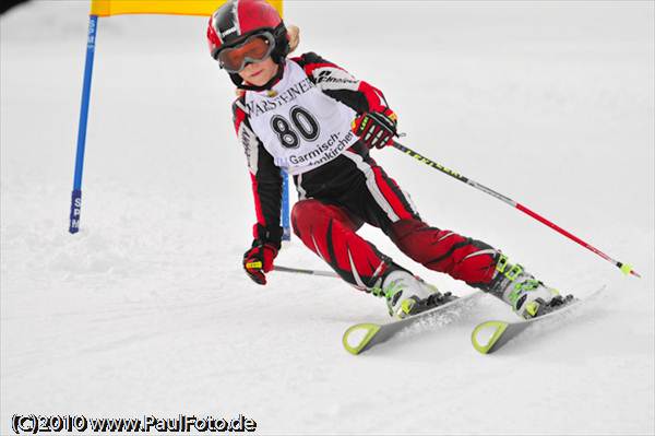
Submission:
<svg viewBox="0 0 655 436">
<path fill-rule="evenodd" d="M 476 292 L 464 297 L 453 297 L 452 301 L 437 306 L 432 309 L 422 311 L 420 314 L 410 316 L 405 319 L 397 321 L 391 321 L 384 325 L 364 322 L 349 327 L 343 337 L 343 344 L 347 352 L 352 354 L 361 354 L 371 347 L 381 344 L 382 342 L 389 341 L 403 330 L 406 330 L 410 326 L 416 326 L 421 321 L 428 319 L 438 318 L 441 315 L 449 314 L 461 307 L 466 306 L 474 298 L 481 295 L 480 292 Z"/>
</svg>

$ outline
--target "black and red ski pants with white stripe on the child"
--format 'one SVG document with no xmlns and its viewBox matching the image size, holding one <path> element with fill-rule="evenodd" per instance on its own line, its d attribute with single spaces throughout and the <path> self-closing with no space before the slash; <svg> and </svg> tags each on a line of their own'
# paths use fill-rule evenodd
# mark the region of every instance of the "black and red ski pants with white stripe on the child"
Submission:
<svg viewBox="0 0 655 436">
<path fill-rule="evenodd" d="M 409 197 L 359 144 L 329 164 L 295 176 L 300 201 L 291 212 L 296 235 L 344 280 L 370 288 L 400 268 L 357 235 L 364 223 L 381 228 L 409 258 L 454 279 L 485 287 L 498 252 L 489 245 L 426 224 Z"/>
</svg>

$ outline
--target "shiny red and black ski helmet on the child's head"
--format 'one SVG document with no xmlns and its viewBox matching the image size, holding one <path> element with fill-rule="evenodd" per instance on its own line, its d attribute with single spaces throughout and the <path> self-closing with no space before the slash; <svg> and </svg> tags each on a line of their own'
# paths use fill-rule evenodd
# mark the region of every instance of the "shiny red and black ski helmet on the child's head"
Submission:
<svg viewBox="0 0 655 436">
<path fill-rule="evenodd" d="M 216 59 L 223 48 L 260 33 L 270 33 L 273 36 L 275 48 L 271 57 L 279 63 L 288 55 L 289 45 L 286 27 L 275 8 L 264 0 L 229 0 L 210 19 L 210 52 Z"/>
</svg>

